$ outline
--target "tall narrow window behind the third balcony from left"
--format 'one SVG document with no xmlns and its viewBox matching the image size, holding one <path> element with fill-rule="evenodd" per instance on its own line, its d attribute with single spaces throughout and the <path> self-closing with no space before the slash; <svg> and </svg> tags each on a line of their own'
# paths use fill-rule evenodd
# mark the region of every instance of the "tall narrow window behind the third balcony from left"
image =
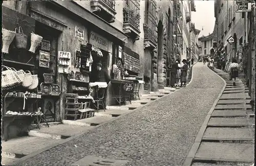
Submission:
<svg viewBox="0 0 256 166">
<path fill-rule="evenodd" d="M 147 29 L 144 31 L 144 38 L 151 39 L 153 42 L 156 42 L 156 9 L 157 5 L 155 1 L 146 0 L 146 9 L 144 12 L 144 23 L 147 25 Z"/>
</svg>

